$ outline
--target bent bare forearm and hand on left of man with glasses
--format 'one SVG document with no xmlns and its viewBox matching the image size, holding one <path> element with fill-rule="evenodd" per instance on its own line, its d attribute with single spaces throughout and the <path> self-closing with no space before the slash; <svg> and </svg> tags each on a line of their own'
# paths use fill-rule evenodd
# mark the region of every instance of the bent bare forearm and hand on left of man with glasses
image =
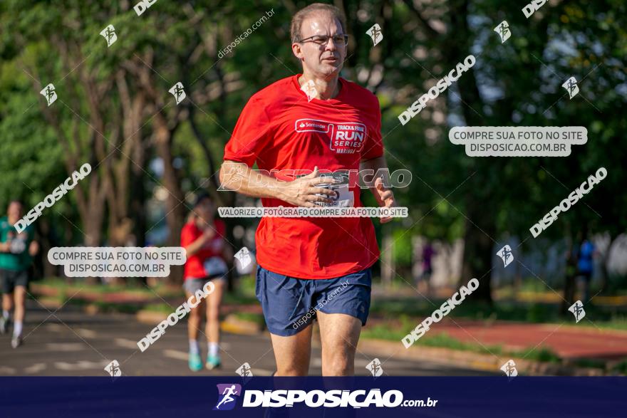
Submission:
<svg viewBox="0 0 627 418">
<path fill-rule="evenodd" d="M 255 172 L 243 162 L 225 160 L 220 168 L 220 183 L 223 187 L 250 197 L 270 197 L 280 199 L 299 207 L 316 207 L 315 202 L 332 203 L 331 199 L 316 196 L 335 196 L 336 192 L 315 184 L 328 183 L 328 177 L 318 177 L 318 167 L 314 172 L 291 182 L 281 182 L 274 177 Z"/>
</svg>

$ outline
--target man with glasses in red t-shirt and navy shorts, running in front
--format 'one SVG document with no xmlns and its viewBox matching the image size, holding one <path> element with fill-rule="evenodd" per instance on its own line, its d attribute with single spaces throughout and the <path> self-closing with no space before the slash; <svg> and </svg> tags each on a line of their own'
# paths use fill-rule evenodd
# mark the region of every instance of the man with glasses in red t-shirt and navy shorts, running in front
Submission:
<svg viewBox="0 0 627 418">
<path fill-rule="evenodd" d="M 220 181 L 227 189 L 261 197 L 264 207 L 333 202 L 361 207 L 358 185 L 337 192 L 316 186 L 329 183 L 328 177 L 318 177 L 321 170 L 387 169 L 377 98 L 339 78 L 346 21 L 334 6 L 311 4 L 294 15 L 291 41 L 303 74 L 250 98 L 224 150 Z M 255 162 L 259 169 L 282 174 L 276 179 L 253 174 Z M 395 205 L 381 179 L 369 186 L 380 206 Z M 353 375 L 370 308 L 371 266 L 379 256 L 371 219 L 263 218 L 256 245 L 257 298 L 271 333 L 275 375 L 307 375 L 313 318 L 320 325 L 322 374 Z"/>
</svg>

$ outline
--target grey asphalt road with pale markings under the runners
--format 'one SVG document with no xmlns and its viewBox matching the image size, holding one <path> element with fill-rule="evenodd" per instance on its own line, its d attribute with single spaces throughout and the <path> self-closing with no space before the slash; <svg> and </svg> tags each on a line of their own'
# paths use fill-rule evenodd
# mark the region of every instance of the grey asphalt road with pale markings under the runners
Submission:
<svg viewBox="0 0 627 418">
<path fill-rule="evenodd" d="M 11 348 L 9 335 L 0 335 L 0 376 L 103 376 L 104 367 L 117 360 L 123 375 L 185 376 L 236 375 L 248 362 L 253 375 L 267 376 L 275 370 L 274 354 L 267 333 L 261 335 L 222 334 L 222 368 L 191 372 L 187 368 L 187 325 L 185 320 L 168 327 L 165 335 L 140 352 L 137 341 L 154 325 L 140 323 L 134 315 L 88 315 L 71 305 L 55 311 L 36 301 L 27 301 L 24 345 Z M 207 346 L 201 344 L 204 355 Z M 366 369 L 377 353 L 358 352 L 356 374 Z M 320 349 L 311 357 L 311 375 L 321 375 Z M 445 363 L 390 358 L 380 359 L 385 375 L 490 375 Z"/>
</svg>

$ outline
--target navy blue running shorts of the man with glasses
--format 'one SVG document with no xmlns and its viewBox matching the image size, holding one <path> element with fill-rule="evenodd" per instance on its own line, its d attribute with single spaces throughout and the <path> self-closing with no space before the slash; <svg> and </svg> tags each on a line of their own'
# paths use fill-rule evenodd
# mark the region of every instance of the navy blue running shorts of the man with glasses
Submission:
<svg viewBox="0 0 627 418">
<path fill-rule="evenodd" d="M 336 278 L 304 279 L 257 266 L 255 293 L 270 333 L 289 337 L 311 324 L 318 310 L 346 313 L 366 325 L 371 285 L 371 268 Z"/>
</svg>

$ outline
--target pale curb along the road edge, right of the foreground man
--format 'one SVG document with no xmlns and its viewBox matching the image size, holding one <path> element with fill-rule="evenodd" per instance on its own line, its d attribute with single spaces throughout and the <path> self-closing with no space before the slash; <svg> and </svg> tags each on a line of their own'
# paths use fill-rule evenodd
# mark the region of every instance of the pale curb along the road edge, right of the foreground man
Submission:
<svg viewBox="0 0 627 418">
<path fill-rule="evenodd" d="M 501 366 L 508 360 L 514 360 L 516 368 L 521 375 L 532 376 L 603 376 L 609 375 L 604 370 L 591 367 L 574 367 L 570 365 L 556 365 L 549 362 L 529 361 L 515 357 L 495 357 L 477 352 L 450 350 L 449 348 L 432 348 L 414 346 L 406 349 L 400 341 L 395 343 L 386 340 L 362 339 L 357 349 L 380 357 L 400 357 L 404 360 L 427 360 L 440 362 L 447 365 L 470 367 L 484 372 L 502 373 Z M 383 360 L 379 358 L 379 360 Z"/>
</svg>

